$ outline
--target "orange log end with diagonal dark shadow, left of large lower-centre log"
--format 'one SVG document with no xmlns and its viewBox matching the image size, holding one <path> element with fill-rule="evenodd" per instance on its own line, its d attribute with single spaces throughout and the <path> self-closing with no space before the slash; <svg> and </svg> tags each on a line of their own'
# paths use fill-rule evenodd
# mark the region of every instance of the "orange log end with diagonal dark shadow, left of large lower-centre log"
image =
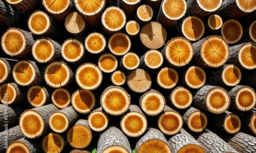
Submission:
<svg viewBox="0 0 256 153">
<path fill-rule="evenodd" d="M 71 104 L 77 112 L 87 114 L 95 107 L 96 97 L 90 90 L 78 89 L 71 96 Z"/>
</svg>

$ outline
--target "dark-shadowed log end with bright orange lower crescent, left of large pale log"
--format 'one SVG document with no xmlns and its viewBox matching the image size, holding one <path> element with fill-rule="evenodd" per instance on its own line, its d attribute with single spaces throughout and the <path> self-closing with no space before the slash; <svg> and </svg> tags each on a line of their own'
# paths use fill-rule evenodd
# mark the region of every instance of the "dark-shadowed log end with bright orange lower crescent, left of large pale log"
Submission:
<svg viewBox="0 0 256 153">
<path fill-rule="evenodd" d="M 124 33 L 115 33 L 111 35 L 108 41 L 110 52 L 117 56 L 122 56 L 129 52 L 131 46 L 132 43 L 129 36 Z"/>
</svg>

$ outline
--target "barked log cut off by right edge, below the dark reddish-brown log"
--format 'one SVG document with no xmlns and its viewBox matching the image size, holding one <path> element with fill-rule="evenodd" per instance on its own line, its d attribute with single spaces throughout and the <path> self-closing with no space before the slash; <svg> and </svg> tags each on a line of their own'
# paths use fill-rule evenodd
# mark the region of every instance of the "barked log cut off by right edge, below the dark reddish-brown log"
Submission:
<svg viewBox="0 0 256 153">
<path fill-rule="evenodd" d="M 235 63 L 241 69 L 254 69 L 256 68 L 256 43 L 245 42 L 229 47 L 230 56 L 228 63 Z"/>
</svg>

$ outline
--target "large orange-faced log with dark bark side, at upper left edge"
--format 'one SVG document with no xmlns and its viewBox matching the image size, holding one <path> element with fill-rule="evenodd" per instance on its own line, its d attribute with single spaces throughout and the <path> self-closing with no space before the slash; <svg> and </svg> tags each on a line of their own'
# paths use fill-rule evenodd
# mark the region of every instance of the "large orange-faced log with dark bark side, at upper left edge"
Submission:
<svg viewBox="0 0 256 153">
<path fill-rule="evenodd" d="M 16 58 L 28 58 L 35 40 L 32 33 L 18 28 L 7 29 L 1 38 L 1 46 L 4 52 Z"/>
</svg>

